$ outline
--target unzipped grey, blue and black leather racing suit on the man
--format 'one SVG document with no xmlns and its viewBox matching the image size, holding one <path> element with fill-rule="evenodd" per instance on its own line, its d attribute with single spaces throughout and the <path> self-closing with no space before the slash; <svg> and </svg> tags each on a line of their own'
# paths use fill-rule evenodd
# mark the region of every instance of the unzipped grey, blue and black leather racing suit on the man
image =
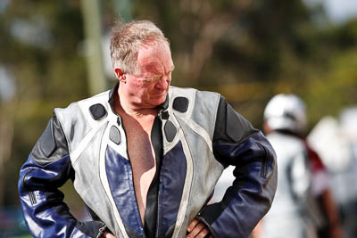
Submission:
<svg viewBox="0 0 357 238">
<path fill-rule="evenodd" d="M 170 86 L 151 134 L 156 172 L 137 208 L 125 125 L 111 91 L 54 109 L 20 172 L 19 193 L 35 237 L 186 237 L 196 217 L 213 237 L 248 237 L 270 209 L 277 186 L 275 153 L 217 93 Z M 207 204 L 221 172 L 236 180 L 222 201 Z M 68 179 L 92 221 L 73 217 L 58 190 Z"/>
</svg>

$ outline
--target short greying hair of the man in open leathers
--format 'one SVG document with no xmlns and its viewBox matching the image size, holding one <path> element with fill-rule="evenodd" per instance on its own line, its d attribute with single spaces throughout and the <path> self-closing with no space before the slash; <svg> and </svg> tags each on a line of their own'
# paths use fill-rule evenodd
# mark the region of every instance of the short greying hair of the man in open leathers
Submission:
<svg viewBox="0 0 357 238">
<path fill-rule="evenodd" d="M 151 21 L 117 22 L 111 32 L 112 67 L 125 73 L 139 73 L 137 65 L 137 50 L 141 45 L 164 42 L 169 40 Z"/>
</svg>

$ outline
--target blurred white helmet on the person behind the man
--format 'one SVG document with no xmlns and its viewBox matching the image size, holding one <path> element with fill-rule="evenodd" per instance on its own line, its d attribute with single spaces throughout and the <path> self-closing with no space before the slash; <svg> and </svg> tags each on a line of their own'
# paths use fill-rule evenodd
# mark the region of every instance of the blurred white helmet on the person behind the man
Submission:
<svg viewBox="0 0 357 238">
<path fill-rule="evenodd" d="M 275 95 L 264 110 L 264 121 L 273 129 L 303 134 L 306 128 L 306 107 L 295 94 Z"/>
</svg>

